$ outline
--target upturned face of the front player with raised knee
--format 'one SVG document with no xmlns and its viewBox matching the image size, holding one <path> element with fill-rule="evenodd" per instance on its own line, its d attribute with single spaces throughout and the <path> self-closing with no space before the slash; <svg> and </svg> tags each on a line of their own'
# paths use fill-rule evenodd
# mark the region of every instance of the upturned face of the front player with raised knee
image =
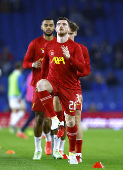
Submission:
<svg viewBox="0 0 123 170">
<path fill-rule="evenodd" d="M 69 32 L 69 25 L 66 20 L 59 20 L 56 25 L 56 32 L 60 37 L 65 36 Z"/>
</svg>

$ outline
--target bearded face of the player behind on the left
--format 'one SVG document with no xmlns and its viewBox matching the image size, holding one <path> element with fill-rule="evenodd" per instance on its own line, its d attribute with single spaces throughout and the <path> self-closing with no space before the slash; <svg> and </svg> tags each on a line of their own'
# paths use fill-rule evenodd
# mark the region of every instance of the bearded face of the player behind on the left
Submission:
<svg viewBox="0 0 123 170">
<path fill-rule="evenodd" d="M 51 36 L 54 31 L 54 21 L 53 20 L 44 20 L 41 25 L 43 33 L 47 36 Z"/>
</svg>

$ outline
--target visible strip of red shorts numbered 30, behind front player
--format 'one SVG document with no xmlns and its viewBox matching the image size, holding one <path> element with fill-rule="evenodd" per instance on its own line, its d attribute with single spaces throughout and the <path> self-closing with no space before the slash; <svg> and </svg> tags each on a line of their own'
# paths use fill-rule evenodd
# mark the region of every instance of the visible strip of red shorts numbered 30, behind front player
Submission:
<svg viewBox="0 0 123 170">
<path fill-rule="evenodd" d="M 76 90 L 76 110 L 82 111 L 82 90 Z"/>
</svg>

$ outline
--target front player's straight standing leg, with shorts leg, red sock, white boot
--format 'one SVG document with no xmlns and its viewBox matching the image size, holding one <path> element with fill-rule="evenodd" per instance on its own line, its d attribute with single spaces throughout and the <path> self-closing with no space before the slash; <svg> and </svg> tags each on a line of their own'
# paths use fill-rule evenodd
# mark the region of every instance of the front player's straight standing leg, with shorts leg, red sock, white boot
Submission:
<svg viewBox="0 0 123 170">
<path fill-rule="evenodd" d="M 60 102 L 65 111 L 65 121 L 67 125 L 67 136 L 69 139 L 69 163 L 78 164 L 75 154 L 75 143 L 77 137 L 77 126 L 75 124 L 76 114 L 76 93 L 72 89 L 60 88 Z"/>
</svg>

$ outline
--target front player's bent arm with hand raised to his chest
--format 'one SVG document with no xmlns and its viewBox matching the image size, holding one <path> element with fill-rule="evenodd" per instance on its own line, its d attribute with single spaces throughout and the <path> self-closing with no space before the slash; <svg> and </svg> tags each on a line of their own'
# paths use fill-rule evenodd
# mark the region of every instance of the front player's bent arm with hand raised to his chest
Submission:
<svg viewBox="0 0 123 170">
<path fill-rule="evenodd" d="M 71 65 L 73 65 L 79 72 L 83 73 L 85 69 L 85 60 L 81 47 L 79 45 L 75 47 L 73 52 L 74 57 L 70 56 L 68 47 L 62 46 L 62 51 L 65 57 L 70 60 Z"/>
</svg>

